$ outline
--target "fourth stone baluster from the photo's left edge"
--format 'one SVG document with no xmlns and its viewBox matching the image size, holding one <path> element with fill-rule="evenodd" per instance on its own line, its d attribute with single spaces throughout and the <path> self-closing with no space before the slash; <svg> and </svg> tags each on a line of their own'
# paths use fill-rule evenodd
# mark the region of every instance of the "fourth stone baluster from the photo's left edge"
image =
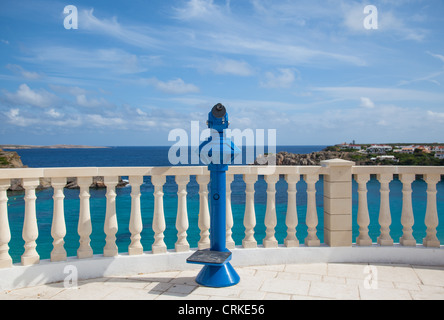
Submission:
<svg viewBox="0 0 444 320">
<path fill-rule="evenodd" d="M 79 225 L 77 227 L 77 232 L 80 236 L 80 246 L 77 249 L 77 258 L 87 259 L 93 256 L 93 250 L 91 248 L 91 233 L 92 233 L 92 223 L 91 223 L 91 210 L 90 210 L 90 193 L 89 188 L 92 184 L 93 179 L 91 177 L 81 177 L 77 178 L 77 184 L 80 187 L 80 212 L 79 212 Z"/>
</svg>

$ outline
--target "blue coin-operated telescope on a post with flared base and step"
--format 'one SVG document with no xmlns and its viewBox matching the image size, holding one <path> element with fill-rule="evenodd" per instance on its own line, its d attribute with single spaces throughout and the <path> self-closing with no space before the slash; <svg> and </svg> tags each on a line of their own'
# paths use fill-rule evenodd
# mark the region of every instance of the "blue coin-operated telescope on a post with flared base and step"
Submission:
<svg viewBox="0 0 444 320">
<path fill-rule="evenodd" d="M 225 135 L 228 126 L 227 110 L 219 103 L 208 115 L 211 136 L 199 146 L 200 159 L 210 171 L 210 249 L 199 250 L 187 259 L 188 263 L 204 265 L 196 282 L 212 288 L 230 287 L 240 281 L 226 248 L 226 172 L 241 153 Z"/>
</svg>

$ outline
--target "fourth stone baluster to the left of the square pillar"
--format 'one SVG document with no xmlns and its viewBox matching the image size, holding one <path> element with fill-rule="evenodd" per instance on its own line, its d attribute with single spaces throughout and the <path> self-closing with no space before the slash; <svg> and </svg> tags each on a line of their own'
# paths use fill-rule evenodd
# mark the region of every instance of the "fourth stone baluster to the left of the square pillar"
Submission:
<svg viewBox="0 0 444 320">
<path fill-rule="evenodd" d="M 254 184 L 257 181 L 257 175 L 244 175 L 244 181 L 246 183 L 244 216 L 245 238 L 242 240 L 242 246 L 244 248 L 257 248 L 257 242 L 254 238 L 254 227 L 256 226 L 256 213 L 254 210 Z"/>
</svg>

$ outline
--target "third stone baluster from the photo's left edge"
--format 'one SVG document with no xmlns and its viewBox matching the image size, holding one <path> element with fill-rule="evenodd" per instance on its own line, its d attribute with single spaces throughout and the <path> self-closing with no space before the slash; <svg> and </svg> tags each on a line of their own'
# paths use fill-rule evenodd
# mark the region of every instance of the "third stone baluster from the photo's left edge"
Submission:
<svg viewBox="0 0 444 320">
<path fill-rule="evenodd" d="M 52 217 L 51 236 L 53 241 L 53 250 L 51 252 L 51 261 L 65 261 L 67 258 L 64 248 L 66 236 L 65 209 L 63 189 L 66 186 L 66 178 L 52 178 L 51 185 L 54 189 L 54 213 Z"/>
</svg>

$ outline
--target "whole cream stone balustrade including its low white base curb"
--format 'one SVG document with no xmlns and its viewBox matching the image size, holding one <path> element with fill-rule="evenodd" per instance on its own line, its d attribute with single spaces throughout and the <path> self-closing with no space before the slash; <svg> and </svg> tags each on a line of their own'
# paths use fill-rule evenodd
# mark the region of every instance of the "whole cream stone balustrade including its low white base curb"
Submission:
<svg viewBox="0 0 444 320">
<path fill-rule="evenodd" d="M 399 175 L 403 184 L 403 208 L 401 224 L 403 235 L 392 239 L 390 226 L 389 184 L 394 175 Z M 231 182 L 235 175 L 241 175 L 246 185 L 245 213 L 243 224 L 245 236 L 241 247 L 235 247 L 232 238 L 233 216 L 231 210 Z M 256 221 L 255 183 L 259 176 L 265 176 L 267 184 L 267 205 L 264 221 Z M 369 212 L 367 204 L 367 182 L 371 175 L 376 175 L 380 182 L 380 236 L 378 243 L 372 243 L 369 237 Z M 427 184 L 427 209 L 424 221 L 414 221 L 411 185 L 417 175 L 421 175 Z M 233 265 L 251 266 L 267 264 L 313 263 L 313 262 L 353 262 L 353 263 L 401 263 L 415 265 L 444 265 L 444 251 L 437 238 L 439 224 L 436 185 L 444 175 L 444 167 L 398 167 L 398 166 L 354 166 L 353 162 L 329 160 L 322 166 L 233 166 L 227 173 L 227 225 L 226 242 L 233 249 Z M 103 255 L 94 255 L 91 248 L 91 215 L 89 184 L 93 176 L 103 176 L 106 191 L 106 217 L 103 230 L 106 245 Z M 117 177 L 128 176 L 131 184 L 131 216 L 129 232 L 131 244 L 128 254 L 119 254 L 116 246 L 118 221 L 116 218 L 115 192 Z M 143 177 L 151 177 L 154 186 L 154 212 L 152 231 L 154 244 L 152 252 L 144 252 L 140 239 L 143 224 L 140 208 L 140 186 Z M 175 227 L 178 240 L 175 250 L 168 251 L 164 242 L 166 220 L 164 212 L 163 187 L 166 176 L 174 176 L 178 184 L 178 205 Z M 37 169 L 0 169 L 0 289 L 9 290 L 19 287 L 40 285 L 43 283 L 64 281 L 69 272 L 77 272 L 78 279 L 103 276 L 125 276 L 137 273 L 150 273 L 168 270 L 193 268 L 186 264 L 190 256 L 190 244 L 187 240 L 189 229 L 187 212 L 187 185 L 190 176 L 196 176 L 199 184 L 199 249 L 209 245 L 209 206 L 207 167 L 130 167 L 130 168 L 37 168 Z M 279 245 L 275 238 L 277 221 L 276 183 L 284 176 L 288 183 L 288 203 L 285 224 L 287 237 L 284 245 Z M 324 179 L 324 242 L 317 236 L 319 224 L 316 207 L 316 182 Z M 68 177 L 77 177 L 79 193 L 79 243 L 77 257 L 67 257 L 64 249 L 66 224 L 64 219 L 63 184 Z M 50 178 L 54 188 L 54 213 L 51 236 L 54 239 L 51 260 L 40 261 L 36 250 L 39 237 L 37 228 L 36 188 L 40 178 Z M 21 234 L 25 242 L 25 252 L 21 264 L 13 264 L 9 254 L 11 229 L 8 220 L 8 194 L 11 179 L 23 179 L 25 188 L 25 218 Z M 298 227 L 298 208 L 296 203 L 296 183 L 304 180 L 307 184 L 307 211 L 305 216 L 307 237 L 302 245 L 296 238 Z M 352 230 L 352 181 L 358 183 L 359 235 L 353 239 Z M 265 226 L 266 236 L 258 244 L 255 228 L 260 223 Z M 412 237 L 414 224 L 425 224 L 426 237 L 421 244 Z M 71 230 L 72 231 L 72 230 Z M 238 235 L 239 236 L 239 235 Z M 257 236 L 257 235 L 256 235 Z M 396 243 L 400 244 L 396 244 Z M 356 243 L 356 244 L 353 244 Z M 73 271 L 74 270 L 74 271 Z"/>
</svg>

